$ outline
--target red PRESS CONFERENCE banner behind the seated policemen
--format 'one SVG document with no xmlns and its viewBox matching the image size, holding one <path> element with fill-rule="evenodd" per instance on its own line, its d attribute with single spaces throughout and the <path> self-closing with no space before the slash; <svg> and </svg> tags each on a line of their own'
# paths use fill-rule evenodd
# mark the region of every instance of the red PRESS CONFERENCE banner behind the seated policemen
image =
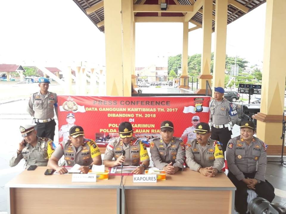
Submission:
<svg viewBox="0 0 286 214">
<path fill-rule="evenodd" d="M 160 135 L 160 124 L 170 120 L 174 136 L 181 137 L 192 126 L 192 117 L 209 122 L 210 97 L 85 97 L 57 96 L 59 142 L 69 136 L 69 128 L 80 125 L 85 137 L 107 142 L 118 136 L 123 121 L 133 125 L 134 134 L 143 142 Z"/>
</svg>

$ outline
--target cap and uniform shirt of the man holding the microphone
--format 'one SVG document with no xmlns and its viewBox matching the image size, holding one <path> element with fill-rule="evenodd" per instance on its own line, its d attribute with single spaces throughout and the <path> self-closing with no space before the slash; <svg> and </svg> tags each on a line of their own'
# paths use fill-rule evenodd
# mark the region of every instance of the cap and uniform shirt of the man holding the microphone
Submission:
<svg viewBox="0 0 286 214">
<path fill-rule="evenodd" d="M 122 122 L 119 125 L 119 137 L 111 140 L 105 150 L 103 160 L 117 160 L 122 152 L 125 151 L 124 166 L 139 166 L 140 162 L 150 161 L 146 146 L 133 136 L 133 128 L 131 123 Z M 132 137 L 130 143 L 125 145 L 121 138 Z M 145 166 L 144 166 L 145 167 Z M 147 167 L 147 166 L 146 166 Z"/>
</svg>

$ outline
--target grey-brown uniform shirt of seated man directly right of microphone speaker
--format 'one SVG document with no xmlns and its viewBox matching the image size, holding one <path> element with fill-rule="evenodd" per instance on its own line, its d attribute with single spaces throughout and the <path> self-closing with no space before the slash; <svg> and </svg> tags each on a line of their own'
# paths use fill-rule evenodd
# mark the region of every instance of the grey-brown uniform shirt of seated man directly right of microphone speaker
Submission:
<svg viewBox="0 0 286 214">
<path fill-rule="evenodd" d="M 173 162 L 173 166 L 184 169 L 185 144 L 179 138 L 173 137 L 168 144 L 161 136 L 154 138 L 150 143 L 150 153 L 154 166 L 160 170 L 170 162 Z"/>
</svg>

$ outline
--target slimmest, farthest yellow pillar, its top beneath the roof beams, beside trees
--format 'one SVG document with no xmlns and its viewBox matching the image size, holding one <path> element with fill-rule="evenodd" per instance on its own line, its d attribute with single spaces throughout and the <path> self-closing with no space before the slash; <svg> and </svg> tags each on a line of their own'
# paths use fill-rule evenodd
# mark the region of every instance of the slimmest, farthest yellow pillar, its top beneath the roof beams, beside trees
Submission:
<svg viewBox="0 0 286 214">
<path fill-rule="evenodd" d="M 183 23 L 183 54 L 182 54 L 182 75 L 180 76 L 179 88 L 188 89 L 188 43 L 189 43 L 189 22 Z"/>
</svg>

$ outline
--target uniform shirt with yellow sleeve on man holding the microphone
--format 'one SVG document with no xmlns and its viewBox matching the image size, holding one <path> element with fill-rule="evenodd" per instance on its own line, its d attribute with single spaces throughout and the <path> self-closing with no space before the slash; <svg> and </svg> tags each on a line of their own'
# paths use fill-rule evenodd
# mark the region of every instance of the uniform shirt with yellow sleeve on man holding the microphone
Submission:
<svg viewBox="0 0 286 214">
<path fill-rule="evenodd" d="M 103 160 L 117 160 L 125 150 L 124 166 L 139 166 L 139 162 L 149 161 L 149 155 L 146 146 L 137 138 L 132 137 L 130 143 L 125 146 L 120 137 L 110 141 L 107 145 Z"/>
</svg>

